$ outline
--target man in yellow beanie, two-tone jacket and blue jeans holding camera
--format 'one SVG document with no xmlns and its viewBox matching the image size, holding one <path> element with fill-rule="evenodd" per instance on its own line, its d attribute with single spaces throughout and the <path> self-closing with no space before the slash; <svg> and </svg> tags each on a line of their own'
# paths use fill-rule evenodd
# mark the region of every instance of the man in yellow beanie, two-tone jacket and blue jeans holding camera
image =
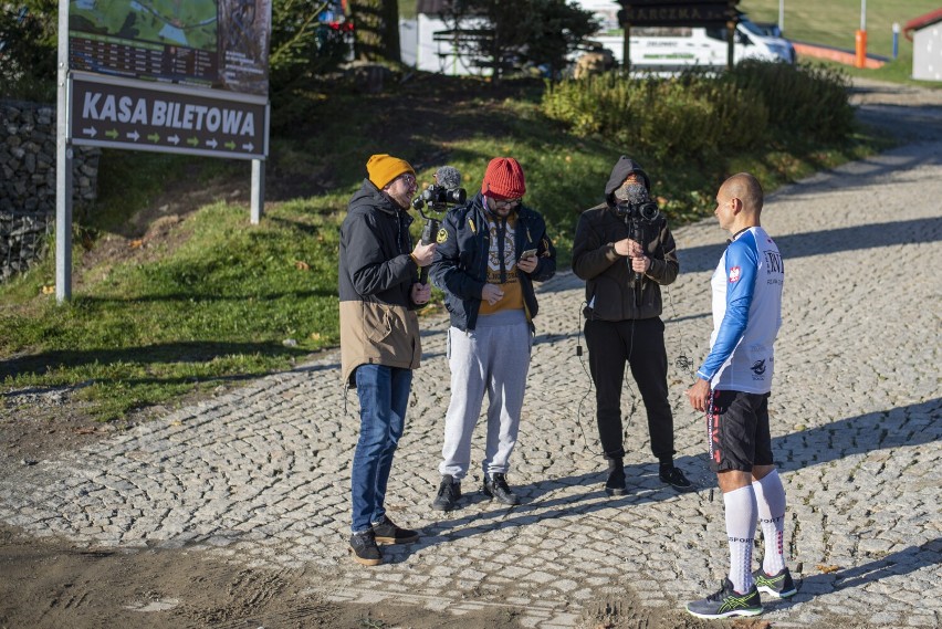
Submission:
<svg viewBox="0 0 942 629">
<path fill-rule="evenodd" d="M 436 244 L 412 247 L 408 214 L 416 193 L 409 163 L 374 155 L 349 201 L 341 227 L 341 369 L 357 390 L 360 430 L 352 470 L 350 552 L 365 566 L 383 563 L 379 544 L 408 544 L 418 533 L 386 515 L 386 484 L 402 436 L 412 369 L 421 344 L 416 308 L 431 287 L 419 269 L 431 263 Z"/>
</svg>

